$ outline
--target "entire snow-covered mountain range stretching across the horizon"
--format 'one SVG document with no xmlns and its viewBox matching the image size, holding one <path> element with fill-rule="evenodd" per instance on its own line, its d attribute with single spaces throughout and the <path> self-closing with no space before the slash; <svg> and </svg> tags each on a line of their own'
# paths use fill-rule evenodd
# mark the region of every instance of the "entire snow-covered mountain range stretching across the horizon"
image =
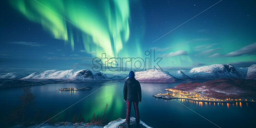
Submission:
<svg viewBox="0 0 256 128">
<path fill-rule="evenodd" d="M 26 81 L 49 82 L 90 82 L 90 81 L 116 81 L 128 78 L 128 74 L 107 74 L 94 72 L 89 69 L 80 71 L 75 69 L 58 71 L 48 70 L 35 72 L 30 75 L 24 73 L 0 74 L 0 79 L 20 79 Z M 135 78 L 141 82 L 175 82 L 179 80 L 213 80 L 219 78 L 256 79 L 256 64 L 248 68 L 236 68 L 231 64 L 213 64 L 192 68 L 189 71 L 142 71 L 135 72 Z"/>
</svg>

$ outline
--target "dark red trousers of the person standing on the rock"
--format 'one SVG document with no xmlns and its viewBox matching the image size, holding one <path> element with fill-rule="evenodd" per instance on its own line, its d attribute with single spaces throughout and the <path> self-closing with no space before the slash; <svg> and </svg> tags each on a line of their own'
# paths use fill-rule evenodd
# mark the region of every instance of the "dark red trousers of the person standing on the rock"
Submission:
<svg viewBox="0 0 256 128">
<path fill-rule="evenodd" d="M 126 101 L 126 123 L 127 124 L 130 124 L 131 102 L 132 101 Z M 135 110 L 136 123 L 139 124 L 140 123 L 139 102 L 132 102 L 132 103 Z"/>
</svg>

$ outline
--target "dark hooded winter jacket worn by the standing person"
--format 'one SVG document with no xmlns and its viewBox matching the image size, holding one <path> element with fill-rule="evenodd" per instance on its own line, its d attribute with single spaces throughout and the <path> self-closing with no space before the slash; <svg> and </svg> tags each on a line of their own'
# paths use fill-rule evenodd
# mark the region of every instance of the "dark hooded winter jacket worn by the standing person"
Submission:
<svg viewBox="0 0 256 128">
<path fill-rule="evenodd" d="M 135 78 L 128 78 L 125 81 L 124 99 L 125 101 L 132 101 L 132 102 L 141 101 L 140 83 Z"/>
</svg>

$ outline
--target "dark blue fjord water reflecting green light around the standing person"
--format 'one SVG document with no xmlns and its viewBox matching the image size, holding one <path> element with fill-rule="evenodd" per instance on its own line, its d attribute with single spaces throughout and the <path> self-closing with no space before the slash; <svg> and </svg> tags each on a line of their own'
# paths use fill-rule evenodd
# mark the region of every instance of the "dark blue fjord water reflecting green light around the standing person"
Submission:
<svg viewBox="0 0 256 128">
<path fill-rule="evenodd" d="M 140 118 L 147 125 L 154 128 L 164 127 L 254 127 L 256 115 L 256 103 L 196 103 L 191 100 L 163 100 L 156 99 L 152 95 L 161 93 L 165 88 L 171 88 L 179 83 L 141 83 L 142 103 L 139 104 Z M 91 90 L 59 91 L 59 88 L 79 88 L 90 86 Z M 126 116 L 126 102 L 123 100 L 124 82 L 87 82 L 87 83 L 64 83 L 47 84 L 31 87 L 35 95 L 33 103 L 25 110 L 25 119 L 33 120 L 35 115 L 44 120 L 60 113 L 67 107 L 81 100 L 66 111 L 57 115 L 51 121 L 71 122 L 81 113 L 85 121 L 91 119 L 93 113 L 102 115 L 106 103 L 108 104 L 106 117 L 108 121 Z M 157 89 L 159 90 L 157 90 Z M 20 104 L 19 97 L 23 95 L 22 88 L 10 88 L 0 90 L 0 117 L 1 120 L 10 116 L 16 106 Z M 189 110 L 191 108 L 195 112 Z M 40 112 L 40 113 L 39 113 Z M 38 114 L 39 113 L 39 114 Z M 135 116 L 132 108 L 131 116 Z"/>
</svg>

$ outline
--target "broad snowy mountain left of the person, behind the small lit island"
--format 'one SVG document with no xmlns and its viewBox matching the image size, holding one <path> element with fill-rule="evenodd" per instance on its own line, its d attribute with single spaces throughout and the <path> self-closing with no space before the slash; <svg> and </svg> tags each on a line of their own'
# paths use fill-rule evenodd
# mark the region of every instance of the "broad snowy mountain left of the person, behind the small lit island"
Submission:
<svg viewBox="0 0 256 128">
<path fill-rule="evenodd" d="M 104 73 L 92 72 L 89 69 L 83 69 L 76 71 L 74 69 L 57 71 L 48 70 L 43 72 L 32 73 L 27 77 L 22 78 L 23 80 L 41 80 L 41 79 L 52 79 L 52 80 L 64 80 L 64 81 L 107 81 L 111 80 Z"/>
</svg>

